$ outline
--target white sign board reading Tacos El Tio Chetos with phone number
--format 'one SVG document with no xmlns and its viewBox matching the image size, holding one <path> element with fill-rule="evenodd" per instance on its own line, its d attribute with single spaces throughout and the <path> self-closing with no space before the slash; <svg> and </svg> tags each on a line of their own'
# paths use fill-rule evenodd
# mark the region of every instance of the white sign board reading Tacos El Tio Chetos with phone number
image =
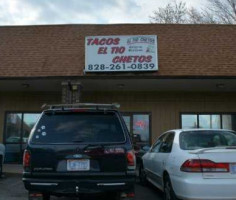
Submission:
<svg viewBox="0 0 236 200">
<path fill-rule="evenodd" d="M 156 35 L 85 38 L 85 72 L 157 70 Z"/>
</svg>

